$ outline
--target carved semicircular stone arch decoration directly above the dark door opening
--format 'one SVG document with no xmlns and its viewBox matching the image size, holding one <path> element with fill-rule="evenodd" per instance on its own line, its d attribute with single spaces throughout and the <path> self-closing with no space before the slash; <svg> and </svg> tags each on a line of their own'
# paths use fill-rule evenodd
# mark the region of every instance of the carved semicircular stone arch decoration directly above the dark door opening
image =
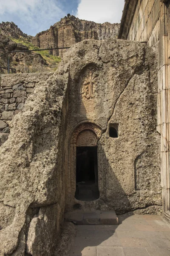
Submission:
<svg viewBox="0 0 170 256">
<path fill-rule="evenodd" d="M 71 144 L 77 146 L 96 145 L 101 135 L 102 131 L 99 126 L 90 122 L 82 123 L 73 132 Z M 85 138 L 87 138 L 87 142 Z M 82 141 L 82 143 L 80 143 L 80 141 Z"/>
</svg>

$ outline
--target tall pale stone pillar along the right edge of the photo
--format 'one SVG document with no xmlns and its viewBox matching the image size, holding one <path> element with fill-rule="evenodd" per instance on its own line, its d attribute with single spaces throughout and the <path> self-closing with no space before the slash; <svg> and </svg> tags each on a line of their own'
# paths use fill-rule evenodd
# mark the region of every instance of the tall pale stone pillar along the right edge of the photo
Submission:
<svg viewBox="0 0 170 256">
<path fill-rule="evenodd" d="M 170 66 L 167 1 L 160 2 L 158 44 L 158 126 L 161 134 L 161 187 L 164 217 L 170 220 Z"/>
</svg>

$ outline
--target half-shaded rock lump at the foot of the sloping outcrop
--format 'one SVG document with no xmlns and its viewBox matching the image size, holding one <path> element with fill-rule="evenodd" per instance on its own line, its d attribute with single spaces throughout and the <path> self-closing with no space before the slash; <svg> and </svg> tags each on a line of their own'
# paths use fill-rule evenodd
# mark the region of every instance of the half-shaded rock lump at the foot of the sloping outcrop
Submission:
<svg viewBox="0 0 170 256">
<path fill-rule="evenodd" d="M 39 256 L 42 251 L 41 255 L 46 256 L 55 252 L 61 221 L 56 218 L 56 213 L 58 216 L 62 214 L 59 204 L 41 207 L 38 217 L 32 219 L 28 231 L 26 249 L 28 254 Z"/>
</svg>

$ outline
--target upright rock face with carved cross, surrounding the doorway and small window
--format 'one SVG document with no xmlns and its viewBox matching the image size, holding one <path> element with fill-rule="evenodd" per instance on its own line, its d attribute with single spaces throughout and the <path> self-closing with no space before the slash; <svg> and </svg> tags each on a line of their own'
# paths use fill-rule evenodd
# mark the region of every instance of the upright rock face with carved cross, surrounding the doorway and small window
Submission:
<svg viewBox="0 0 170 256">
<path fill-rule="evenodd" d="M 80 204 L 84 208 L 90 205 L 91 209 L 102 206 L 116 213 L 139 208 L 147 208 L 147 212 L 150 209 L 152 213 L 153 206 L 156 209 L 159 206 L 161 211 L 155 53 L 141 43 L 122 40 L 87 40 L 75 45 L 70 55 L 69 52 L 62 62 L 67 62 L 68 56 L 71 59 L 66 141 L 69 145 L 72 136 L 73 143 L 65 161 L 67 209 L 76 204 L 76 146 L 91 142 L 85 135 L 80 145 L 77 136 L 82 129 L 79 127 L 87 120 L 97 124 L 102 133 L 96 144 L 100 197 L 91 204 L 85 201 Z M 90 72 L 91 99 L 89 87 L 86 90 Z M 111 125 L 118 127 L 118 138 L 109 136 Z M 93 125 L 91 128 L 85 123 L 85 129 L 94 133 L 97 127 L 93 130 Z"/>
</svg>

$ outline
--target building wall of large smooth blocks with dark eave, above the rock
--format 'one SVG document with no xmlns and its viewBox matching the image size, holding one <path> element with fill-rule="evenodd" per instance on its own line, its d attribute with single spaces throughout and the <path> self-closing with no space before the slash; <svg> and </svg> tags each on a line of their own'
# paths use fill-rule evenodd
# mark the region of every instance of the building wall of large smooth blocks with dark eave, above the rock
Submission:
<svg viewBox="0 0 170 256">
<path fill-rule="evenodd" d="M 147 42 L 157 50 L 159 20 L 160 0 L 125 1 L 119 38 Z"/>
</svg>

